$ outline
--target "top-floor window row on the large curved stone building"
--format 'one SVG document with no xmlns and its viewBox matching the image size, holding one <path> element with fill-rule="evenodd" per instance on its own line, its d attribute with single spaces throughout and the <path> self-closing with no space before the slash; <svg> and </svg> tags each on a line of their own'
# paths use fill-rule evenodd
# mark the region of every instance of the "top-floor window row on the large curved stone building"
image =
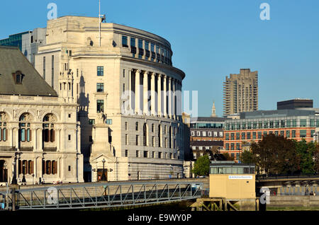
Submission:
<svg viewBox="0 0 319 225">
<path fill-rule="evenodd" d="M 122 36 L 122 47 L 128 47 L 130 40 L 130 52 L 135 57 L 138 54 L 139 59 L 150 60 L 152 62 L 161 62 L 172 66 L 172 51 L 166 47 L 155 45 L 155 43 L 147 40 L 138 39 L 138 47 L 136 47 L 135 37 Z"/>
</svg>

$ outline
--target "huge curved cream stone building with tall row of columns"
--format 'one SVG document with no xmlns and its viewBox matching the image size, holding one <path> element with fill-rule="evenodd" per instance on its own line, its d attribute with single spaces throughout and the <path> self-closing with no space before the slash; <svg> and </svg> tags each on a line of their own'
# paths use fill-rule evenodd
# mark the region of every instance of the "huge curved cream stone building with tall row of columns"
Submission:
<svg viewBox="0 0 319 225">
<path fill-rule="evenodd" d="M 179 97 L 185 74 L 172 66 L 170 43 L 81 16 L 47 21 L 46 32 L 35 68 L 79 103 L 85 180 L 102 171 L 107 180 L 181 177 L 189 149 Z M 72 81 L 59 83 L 63 74 Z"/>
</svg>

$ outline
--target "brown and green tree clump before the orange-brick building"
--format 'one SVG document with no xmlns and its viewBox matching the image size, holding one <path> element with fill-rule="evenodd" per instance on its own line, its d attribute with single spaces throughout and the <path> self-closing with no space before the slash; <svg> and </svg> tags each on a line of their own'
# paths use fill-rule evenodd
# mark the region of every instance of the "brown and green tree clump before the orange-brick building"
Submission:
<svg viewBox="0 0 319 225">
<path fill-rule="evenodd" d="M 252 143 L 252 153 L 243 152 L 241 160 L 254 161 L 265 173 L 318 173 L 319 145 L 268 134 L 261 142 Z"/>
</svg>

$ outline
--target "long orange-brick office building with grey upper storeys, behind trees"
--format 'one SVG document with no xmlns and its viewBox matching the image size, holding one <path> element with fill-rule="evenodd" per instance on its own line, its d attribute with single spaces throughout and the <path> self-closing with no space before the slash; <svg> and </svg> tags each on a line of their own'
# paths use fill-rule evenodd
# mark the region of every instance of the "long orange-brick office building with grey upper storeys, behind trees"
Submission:
<svg viewBox="0 0 319 225">
<path fill-rule="evenodd" d="M 227 152 L 239 161 L 247 143 L 259 142 L 267 134 L 313 142 L 316 127 L 319 127 L 319 116 L 316 111 L 315 109 L 259 110 L 239 113 L 239 118 L 225 120 L 222 152 Z"/>
</svg>

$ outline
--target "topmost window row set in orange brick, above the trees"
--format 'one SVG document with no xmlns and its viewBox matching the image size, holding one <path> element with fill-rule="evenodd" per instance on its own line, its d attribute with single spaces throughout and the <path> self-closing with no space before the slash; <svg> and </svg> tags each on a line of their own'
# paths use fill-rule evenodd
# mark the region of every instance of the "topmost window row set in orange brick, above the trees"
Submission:
<svg viewBox="0 0 319 225">
<path fill-rule="evenodd" d="M 296 137 L 296 130 L 281 130 L 281 131 L 264 131 L 264 132 L 237 132 L 237 133 L 227 133 L 225 134 L 225 140 L 245 140 L 245 139 L 262 139 L 263 135 L 267 134 L 275 134 L 276 136 L 285 136 L 287 138 L 295 138 Z M 310 137 L 313 137 L 313 134 L 315 134 L 315 130 L 310 130 Z M 299 133 L 299 137 L 307 137 L 307 130 L 301 129 Z"/>
</svg>

